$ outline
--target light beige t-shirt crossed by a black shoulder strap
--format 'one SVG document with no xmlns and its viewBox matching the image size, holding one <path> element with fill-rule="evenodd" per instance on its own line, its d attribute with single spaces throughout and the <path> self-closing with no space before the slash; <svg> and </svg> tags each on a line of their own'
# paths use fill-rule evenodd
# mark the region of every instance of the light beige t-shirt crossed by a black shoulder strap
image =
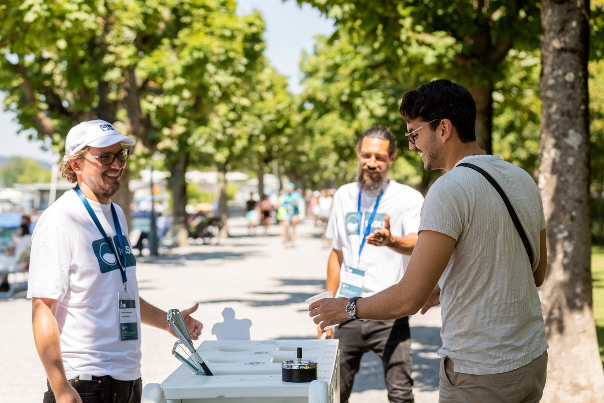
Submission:
<svg viewBox="0 0 604 403">
<path fill-rule="evenodd" d="M 514 370 L 548 348 L 533 280 L 545 216 L 539 189 L 524 170 L 499 156 L 467 156 L 498 182 L 513 205 L 533 250 L 533 268 L 506 205 L 483 175 L 455 167 L 430 188 L 420 231 L 457 243 L 440 277 L 440 356 L 455 371 L 487 375 Z"/>
</svg>

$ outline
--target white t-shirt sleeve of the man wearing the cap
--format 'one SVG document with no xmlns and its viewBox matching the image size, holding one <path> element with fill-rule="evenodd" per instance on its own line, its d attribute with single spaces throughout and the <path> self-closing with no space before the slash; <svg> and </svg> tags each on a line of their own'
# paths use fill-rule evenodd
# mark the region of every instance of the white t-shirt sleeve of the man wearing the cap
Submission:
<svg viewBox="0 0 604 403">
<path fill-rule="evenodd" d="M 57 228 L 39 228 L 31 245 L 28 298 L 62 300 L 69 287 L 71 241 Z"/>
</svg>

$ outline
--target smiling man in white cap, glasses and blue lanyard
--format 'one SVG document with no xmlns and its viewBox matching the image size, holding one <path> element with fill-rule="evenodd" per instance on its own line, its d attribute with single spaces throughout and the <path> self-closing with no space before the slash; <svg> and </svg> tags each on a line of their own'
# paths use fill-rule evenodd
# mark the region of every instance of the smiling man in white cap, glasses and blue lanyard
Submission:
<svg viewBox="0 0 604 403">
<path fill-rule="evenodd" d="M 77 185 L 36 224 L 27 297 L 44 402 L 140 402 L 140 324 L 172 332 L 167 313 L 138 296 L 126 218 L 111 202 L 129 156 L 122 144 L 134 143 L 103 120 L 72 127 L 60 169 Z M 182 311 L 195 340 L 197 308 Z"/>
</svg>

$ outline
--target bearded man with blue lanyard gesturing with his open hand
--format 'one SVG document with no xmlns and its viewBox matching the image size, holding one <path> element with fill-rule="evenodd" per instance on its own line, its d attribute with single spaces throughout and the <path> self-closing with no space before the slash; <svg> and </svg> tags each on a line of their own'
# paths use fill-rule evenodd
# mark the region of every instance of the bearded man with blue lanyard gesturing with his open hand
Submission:
<svg viewBox="0 0 604 403">
<path fill-rule="evenodd" d="M 383 126 L 366 131 L 357 146 L 357 181 L 338 189 L 325 237 L 333 250 L 327 262 L 326 290 L 334 297 L 368 297 L 402 278 L 417 239 L 422 195 L 388 179 L 396 158 L 394 135 Z M 354 317 L 354 315 L 352 315 Z M 364 353 L 384 363 L 388 399 L 413 402 L 409 318 L 350 320 L 325 331 L 340 341 L 340 401 L 346 403 Z"/>
</svg>

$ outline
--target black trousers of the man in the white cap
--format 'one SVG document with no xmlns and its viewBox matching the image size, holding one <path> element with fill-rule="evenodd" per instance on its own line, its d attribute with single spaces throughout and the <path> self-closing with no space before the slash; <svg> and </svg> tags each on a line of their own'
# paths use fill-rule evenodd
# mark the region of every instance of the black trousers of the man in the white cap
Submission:
<svg viewBox="0 0 604 403">
<path fill-rule="evenodd" d="M 141 378 L 135 381 L 118 381 L 111 376 L 92 376 L 92 381 L 70 379 L 83 403 L 140 403 L 143 394 Z M 53 390 L 47 381 L 48 392 L 43 403 L 56 403 Z"/>
</svg>

